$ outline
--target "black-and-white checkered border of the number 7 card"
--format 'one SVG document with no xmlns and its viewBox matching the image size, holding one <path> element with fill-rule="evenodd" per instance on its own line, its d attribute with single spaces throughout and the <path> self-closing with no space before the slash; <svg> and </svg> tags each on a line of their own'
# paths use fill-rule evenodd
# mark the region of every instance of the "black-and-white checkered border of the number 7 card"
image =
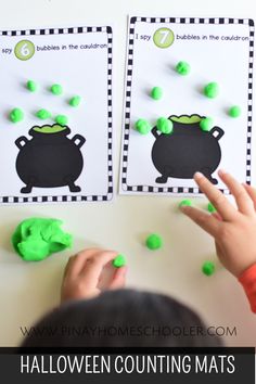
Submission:
<svg viewBox="0 0 256 384">
<path fill-rule="evenodd" d="M 130 17 L 128 50 L 127 50 L 127 79 L 126 79 L 126 102 L 124 116 L 124 135 L 123 135 L 123 159 L 121 159 L 121 189 L 128 192 L 142 193 L 201 193 L 199 188 L 187 187 L 152 187 L 152 185 L 128 185 L 127 184 L 127 166 L 128 166 L 128 149 L 130 133 L 130 103 L 131 103 L 131 82 L 133 68 L 133 43 L 135 27 L 137 22 L 142 23 L 175 23 L 175 24 L 243 24 L 249 28 L 249 61 L 248 61 L 248 105 L 247 105 L 247 142 L 246 142 L 246 182 L 251 183 L 252 179 L 252 124 L 253 124 L 253 66 L 254 66 L 254 21 L 249 18 L 228 18 L 228 17 Z M 220 189 L 225 194 L 229 194 L 228 189 Z"/>
</svg>

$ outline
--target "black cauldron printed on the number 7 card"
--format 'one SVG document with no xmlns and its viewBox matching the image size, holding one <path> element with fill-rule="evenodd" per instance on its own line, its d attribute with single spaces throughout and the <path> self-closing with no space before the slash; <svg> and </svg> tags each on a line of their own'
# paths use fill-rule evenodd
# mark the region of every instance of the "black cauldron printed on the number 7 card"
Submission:
<svg viewBox="0 0 256 384">
<path fill-rule="evenodd" d="M 219 127 L 209 131 L 200 128 L 202 116 L 169 116 L 174 123 L 170 135 L 161 133 L 156 127 L 152 129 L 155 142 L 152 148 L 152 161 L 162 175 L 157 183 L 166 183 L 169 177 L 192 179 L 195 171 L 204 174 L 214 184 L 217 179 L 212 174 L 221 158 L 219 139 L 225 135 Z"/>
</svg>

